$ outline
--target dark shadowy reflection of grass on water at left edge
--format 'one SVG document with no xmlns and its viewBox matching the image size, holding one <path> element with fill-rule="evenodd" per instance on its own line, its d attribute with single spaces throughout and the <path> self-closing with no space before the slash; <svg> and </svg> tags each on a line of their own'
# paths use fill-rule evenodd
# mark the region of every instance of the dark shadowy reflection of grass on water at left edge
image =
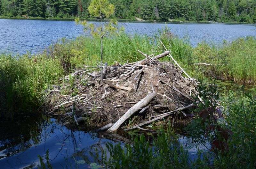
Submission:
<svg viewBox="0 0 256 169">
<path fill-rule="evenodd" d="M 0 159 L 40 143 L 40 134 L 45 122 L 45 119 L 39 115 L 13 122 L 0 120 Z"/>
</svg>

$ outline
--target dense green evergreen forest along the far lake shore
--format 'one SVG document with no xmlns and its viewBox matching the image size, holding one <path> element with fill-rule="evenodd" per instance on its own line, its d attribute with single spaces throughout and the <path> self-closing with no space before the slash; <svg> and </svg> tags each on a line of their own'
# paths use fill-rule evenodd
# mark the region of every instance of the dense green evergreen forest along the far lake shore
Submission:
<svg viewBox="0 0 256 169">
<path fill-rule="evenodd" d="M 0 0 L 6 17 L 90 18 L 91 0 Z M 256 22 L 256 0 L 109 0 L 119 19 Z"/>
</svg>

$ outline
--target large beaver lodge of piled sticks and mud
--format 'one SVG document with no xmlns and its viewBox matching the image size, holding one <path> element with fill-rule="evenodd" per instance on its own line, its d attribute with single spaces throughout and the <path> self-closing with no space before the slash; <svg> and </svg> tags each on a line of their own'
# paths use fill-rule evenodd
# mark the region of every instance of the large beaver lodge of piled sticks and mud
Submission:
<svg viewBox="0 0 256 169">
<path fill-rule="evenodd" d="M 182 77 L 184 70 L 171 62 L 158 61 L 167 55 L 172 58 L 170 51 L 157 56 L 140 53 L 145 59 L 138 62 L 102 65 L 103 82 L 101 71 L 75 69 L 61 79 L 62 86 L 47 91 L 47 114 L 58 116 L 65 125 L 86 121 L 108 132 L 121 127 L 147 130 L 145 125 L 154 121 L 189 115 L 195 106 L 196 82 Z"/>
</svg>

